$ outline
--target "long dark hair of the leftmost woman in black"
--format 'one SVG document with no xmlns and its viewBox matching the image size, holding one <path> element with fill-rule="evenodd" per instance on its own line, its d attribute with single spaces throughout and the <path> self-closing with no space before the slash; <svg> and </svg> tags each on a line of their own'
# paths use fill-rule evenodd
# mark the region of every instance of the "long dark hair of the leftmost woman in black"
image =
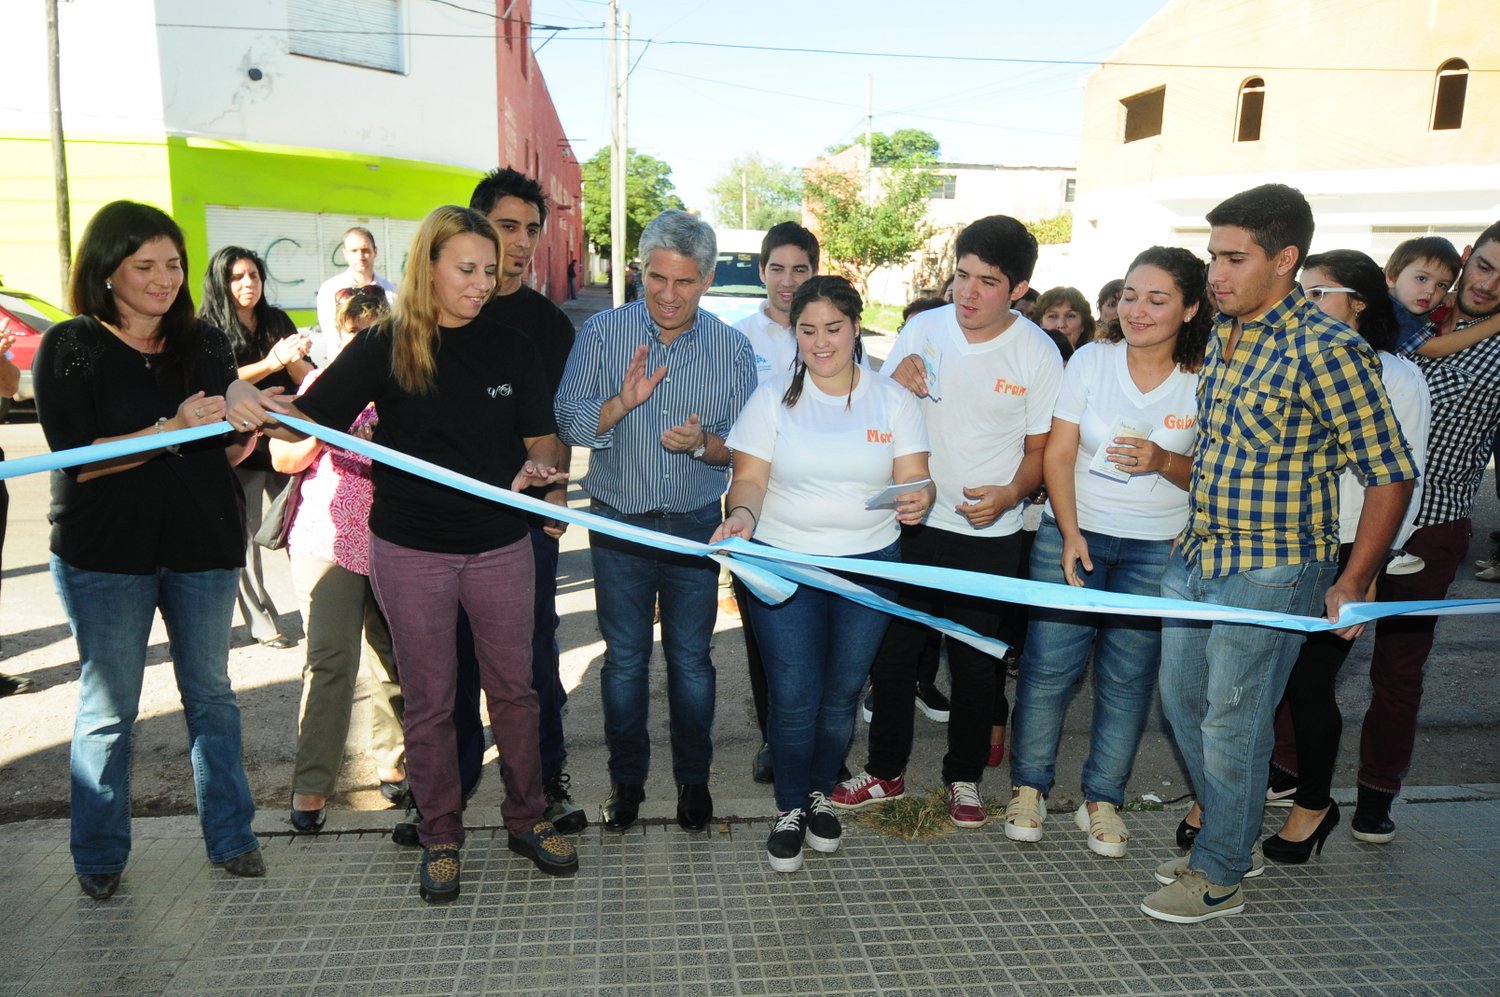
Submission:
<svg viewBox="0 0 1500 997">
<path fill-rule="evenodd" d="M 106 282 L 141 246 L 164 237 L 172 241 L 186 274 L 188 249 L 183 244 L 183 231 L 171 216 L 136 201 L 111 201 L 99 208 L 88 220 L 82 241 L 78 243 L 78 256 L 74 259 L 74 273 L 68 285 L 69 309 L 75 315 L 87 315 L 118 327 L 120 310 Z M 152 364 L 152 370 L 158 379 L 162 382 L 176 379 L 186 388 L 200 328 L 194 318 L 192 292 L 188 291 L 184 279 L 156 330 L 162 352 Z"/>
</svg>

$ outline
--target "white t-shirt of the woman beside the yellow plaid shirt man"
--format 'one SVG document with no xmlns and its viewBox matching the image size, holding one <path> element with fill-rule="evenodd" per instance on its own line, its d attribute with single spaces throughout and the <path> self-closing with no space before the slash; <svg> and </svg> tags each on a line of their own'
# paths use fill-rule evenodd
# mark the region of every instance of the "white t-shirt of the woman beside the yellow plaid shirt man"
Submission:
<svg viewBox="0 0 1500 997">
<path fill-rule="evenodd" d="M 1056 415 L 1078 427 L 1072 484 L 1078 528 L 1132 540 L 1172 540 L 1188 522 L 1188 493 L 1162 474 L 1136 474 L 1116 481 L 1089 469 L 1100 447 L 1113 439 L 1116 420 L 1150 426 L 1158 447 L 1191 460 L 1198 435 L 1198 375 L 1173 367 L 1166 381 L 1142 393 L 1125 363 L 1125 343 L 1088 343 L 1072 354 L 1062 375 Z M 1052 514 L 1052 502 L 1047 502 Z"/>
</svg>

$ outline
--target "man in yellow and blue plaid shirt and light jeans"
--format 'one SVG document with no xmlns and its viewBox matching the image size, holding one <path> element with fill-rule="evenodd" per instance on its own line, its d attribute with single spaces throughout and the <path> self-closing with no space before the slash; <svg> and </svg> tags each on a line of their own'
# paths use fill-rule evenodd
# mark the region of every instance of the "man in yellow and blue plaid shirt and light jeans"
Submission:
<svg viewBox="0 0 1500 997">
<path fill-rule="evenodd" d="M 1384 564 L 1416 466 L 1374 349 L 1296 285 L 1312 241 L 1306 199 L 1264 184 L 1228 198 L 1208 222 L 1220 315 L 1198 375 L 1191 511 L 1161 594 L 1300 616 L 1323 610 L 1332 621 L 1344 603 L 1364 600 Z M 1365 508 L 1340 574 L 1346 463 L 1364 480 Z M 1245 909 L 1239 882 L 1256 871 L 1272 720 L 1302 640 L 1270 627 L 1162 621 L 1161 705 L 1203 828 L 1186 859 L 1156 870 L 1164 886 L 1143 913 L 1194 924 Z"/>
</svg>

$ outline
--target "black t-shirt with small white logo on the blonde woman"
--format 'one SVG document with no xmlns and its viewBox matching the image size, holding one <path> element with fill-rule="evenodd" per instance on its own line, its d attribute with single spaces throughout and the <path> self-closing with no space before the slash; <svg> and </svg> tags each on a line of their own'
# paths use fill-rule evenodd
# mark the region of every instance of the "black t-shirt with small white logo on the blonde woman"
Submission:
<svg viewBox="0 0 1500 997">
<path fill-rule="evenodd" d="M 552 393 L 532 342 L 507 336 L 486 316 L 438 330 L 436 387 L 404 391 L 392 375 L 392 327 L 375 325 L 345 346 L 297 408 L 345 429 L 366 403 L 380 421 L 375 442 L 488 484 L 510 487 L 526 459 L 524 438 L 556 432 Z M 375 463 L 370 532 L 402 547 L 480 553 L 522 540 L 520 513 L 466 492 Z"/>
</svg>

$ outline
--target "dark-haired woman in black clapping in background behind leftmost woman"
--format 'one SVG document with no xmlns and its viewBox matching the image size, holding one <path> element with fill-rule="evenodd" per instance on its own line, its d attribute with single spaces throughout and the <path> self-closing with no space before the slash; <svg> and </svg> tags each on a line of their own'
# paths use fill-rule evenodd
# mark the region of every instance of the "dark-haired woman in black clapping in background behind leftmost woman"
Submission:
<svg viewBox="0 0 1500 997">
<path fill-rule="evenodd" d="M 202 309 L 198 318 L 218 325 L 230 337 L 240 378 L 258 388 L 279 387 L 297 393 L 312 363 L 306 360 L 312 340 L 297 331 L 286 312 L 266 300 L 266 261 L 255 250 L 225 246 L 208 261 L 202 276 Z M 249 457 L 234 468 L 244 492 L 246 534 L 261 528 L 266 502 L 286 484 L 286 475 L 272 469 L 266 439 L 256 442 Z M 244 568 L 240 571 L 240 613 L 250 636 L 267 648 L 294 648 L 297 642 L 280 631 L 276 603 L 266 591 L 261 573 L 261 547 L 249 540 Z"/>
</svg>

